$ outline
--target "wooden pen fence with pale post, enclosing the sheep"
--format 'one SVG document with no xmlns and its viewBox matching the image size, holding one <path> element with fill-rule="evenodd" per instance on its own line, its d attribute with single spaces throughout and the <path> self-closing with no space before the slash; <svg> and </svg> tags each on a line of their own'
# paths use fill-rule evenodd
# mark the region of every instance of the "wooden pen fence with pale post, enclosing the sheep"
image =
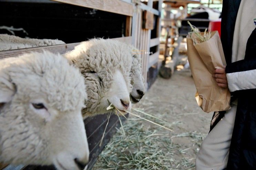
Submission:
<svg viewBox="0 0 256 170">
<path fill-rule="evenodd" d="M 157 72 L 158 69 L 158 55 L 159 55 L 159 35 L 161 31 L 160 27 L 160 11 L 162 0 L 153 1 L 149 0 L 147 4 L 144 4 L 138 0 L 0 0 L 0 2 L 6 3 L 16 3 L 16 2 L 24 2 L 24 3 L 52 3 L 57 4 L 66 3 L 70 5 L 97 9 L 101 11 L 106 11 L 109 13 L 116 13 L 126 16 L 125 20 L 125 31 L 124 37 L 117 37 L 113 39 L 117 39 L 121 42 L 125 42 L 127 44 L 133 44 L 136 48 L 141 50 L 142 54 L 142 69 L 143 69 L 143 77 L 146 81 L 146 86 L 149 87 L 152 82 L 156 79 L 156 76 L 149 79 L 149 70 L 154 70 Z M 154 29 L 143 29 L 143 14 L 144 12 L 150 12 L 154 16 Z M 1 22 L 0 22 L 1 24 Z M 33 23 L 31 23 L 33 24 Z M 100 23 L 99 23 L 100 24 Z M 28 52 L 42 52 L 43 50 L 49 50 L 52 53 L 60 53 L 64 54 L 72 49 L 79 42 L 61 44 L 61 45 L 52 45 L 52 46 L 44 46 L 44 47 L 33 47 L 33 48 L 24 48 L 24 49 L 16 49 L 16 50 L 6 50 L 0 52 L 0 59 L 6 57 L 16 57 L 23 53 Z M 154 49 L 154 53 L 150 50 Z M 147 88 L 148 89 L 148 88 Z M 116 127 L 119 127 L 118 118 L 114 115 L 110 118 L 110 122 L 108 128 L 106 129 L 105 138 L 103 141 L 103 145 L 99 147 L 99 142 L 102 137 L 102 133 L 106 126 L 106 116 L 107 115 L 98 115 L 95 117 L 87 118 L 85 123 L 86 134 L 88 137 L 89 149 L 90 149 L 90 162 L 88 169 L 91 169 L 104 148 L 104 146 L 109 142 L 110 138 L 116 131 Z M 123 120 L 124 121 L 124 120 Z M 12 166 L 12 165 L 1 165 L 0 170 L 53 170 L 53 166 Z"/>
</svg>

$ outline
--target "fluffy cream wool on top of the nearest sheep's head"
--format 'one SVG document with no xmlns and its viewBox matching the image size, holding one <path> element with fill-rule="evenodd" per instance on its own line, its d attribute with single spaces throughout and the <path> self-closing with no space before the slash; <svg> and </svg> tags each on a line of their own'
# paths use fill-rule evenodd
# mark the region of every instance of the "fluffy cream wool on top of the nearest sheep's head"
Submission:
<svg viewBox="0 0 256 170">
<path fill-rule="evenodd" d="M 68 60 L 60 54 L 50 57 L 53 55 L 52 53 L 44 52 L 40 54 L 41 58 L 34 57 L 38 54 L 30 53 L 19 58 L 0 60 L 0 77 L 6 77 L 12 83 L 20 84 L 20 87 L 23 88 L 17 87 L 16 90 L 24 94 L 24 97 L 30 92 L 46 93 L 50 106 L 56 106 L 60 111 L 70 111 L 84 106 L 80 99 L 87 99 L 87 95 L 84 91 L 84 84 L 81 84 L 79 71 L 70 66 Z M 63 76 L 59 76 L 60 73 Z M 0 88 L 5 89 L 1 86 L 6 85 L 0 84 Z M 58 93 L 58 91 L 62 93 Z M 70 101 L 70 98 L 73 100 Z"/>
</svg>

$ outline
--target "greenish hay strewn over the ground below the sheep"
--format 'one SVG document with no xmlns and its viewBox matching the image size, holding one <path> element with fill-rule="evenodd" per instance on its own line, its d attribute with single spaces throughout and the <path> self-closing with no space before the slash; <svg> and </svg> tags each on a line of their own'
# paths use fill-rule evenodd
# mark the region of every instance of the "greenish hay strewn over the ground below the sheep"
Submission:
<svg viewBox="0 0 256 170">
<path fill-rule="evenodd" d="M 122 128 L 117 129 L 117 133 L 105 146 L 93 169 L 194 169 L 194 158 L 175 159 L 177 152 L 178 154 L 186 154 L 190 148 L 184 149 L 179 144 L 173 143 L 173 138 L 189 137 L 199 147 L 205 134 L 185 132 L 171 135 L 169 131 L 163 130 L 159 126 L 145 126 L 142 122 L 143 120 L 140 118 L 129 118 L 123 125 L 126 138 Z M 154 122 L 157 122 L 157 119 Z M 172 128 L 177 124 L 180 122 L 173 122 Z M 197 151 L 195 150 L 195 152 Z"/>
</svg>

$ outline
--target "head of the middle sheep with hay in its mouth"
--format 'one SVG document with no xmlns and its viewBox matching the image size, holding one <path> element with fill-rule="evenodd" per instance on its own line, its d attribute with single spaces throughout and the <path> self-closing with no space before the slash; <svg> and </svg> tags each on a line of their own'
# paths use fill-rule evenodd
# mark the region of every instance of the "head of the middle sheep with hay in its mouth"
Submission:
<svg viewBox="0 0 256 170">
<path fill-rule="evenodd" d="M 106 113 L 112 103 L 117 109 L 131 110 L 130 47 L 116 40 L 94 38 L 65 54 L 85 78 L 89 100 L 84 117 Z M 110 102 L 110 103 L 109 103 Z"/>
</svg>

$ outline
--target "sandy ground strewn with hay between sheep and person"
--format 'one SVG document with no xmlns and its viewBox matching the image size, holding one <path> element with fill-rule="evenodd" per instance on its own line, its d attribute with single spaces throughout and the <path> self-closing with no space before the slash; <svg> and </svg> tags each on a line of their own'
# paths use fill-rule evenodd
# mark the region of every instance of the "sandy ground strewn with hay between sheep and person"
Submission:
<svg viewBox="0 0 256 170">
<path fill-rule="evenodd" d="M 136 107 L 168 122 L 146 117 L 174 132 L 130 115 L 124 123 L 126 138 L 118 129 L 93 170 L 195 169 L 196 153 L 212 118 L 197 106 L 195 91 L 187 69 L 175 71 L 168 80 L 158 77 Z"/>
</svg>

